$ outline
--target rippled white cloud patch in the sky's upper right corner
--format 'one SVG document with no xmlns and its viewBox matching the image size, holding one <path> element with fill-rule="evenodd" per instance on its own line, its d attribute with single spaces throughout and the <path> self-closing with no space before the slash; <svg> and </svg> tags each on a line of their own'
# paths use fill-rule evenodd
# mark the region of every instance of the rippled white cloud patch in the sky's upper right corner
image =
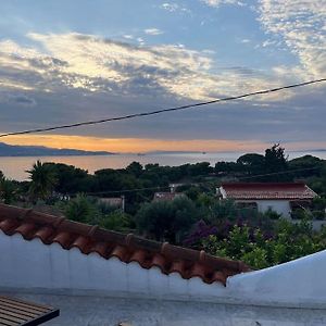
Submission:
<svg viewBox="0 0 326 326">
<path fill-rule="evenodd" d="M 298 57 L 305 78 L 326 73 L 326 5 L 319 0 L 260 0 L 260 22 Z M 271 46 L 268 40 L 263 46 Z"/>
</svg>

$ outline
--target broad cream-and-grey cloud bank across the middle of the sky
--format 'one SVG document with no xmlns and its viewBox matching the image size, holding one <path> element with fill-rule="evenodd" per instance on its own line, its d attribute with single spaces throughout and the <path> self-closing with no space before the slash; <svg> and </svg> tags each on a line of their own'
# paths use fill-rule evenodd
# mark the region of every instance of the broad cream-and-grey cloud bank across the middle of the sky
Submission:
<svg viewBox="0 0 326 326">
<path fill-rule="evenodd" d="M 10 98 L 0 103 L 1 133 L 172 108 L 304 76 L 302 66 L 222 68 L 216 53 L 185 46 L 130 45 L 76 33 L 28 37 L 35 46 L 0 42 L 0 99 Z M 308 87 L 64 133 L 110 139 L 315 141 L 326 139 L 324 90 Z M 30 105 L 22 104 L 28 99 Z"/>
</svg>

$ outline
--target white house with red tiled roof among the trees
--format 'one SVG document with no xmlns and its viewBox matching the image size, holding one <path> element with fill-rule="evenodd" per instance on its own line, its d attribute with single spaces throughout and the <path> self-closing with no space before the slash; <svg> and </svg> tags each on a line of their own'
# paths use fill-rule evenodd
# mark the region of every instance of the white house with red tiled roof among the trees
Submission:
<svg viewBox="0 0 326 326">
<path fill-rule="evenodd" d="M 217 189 L 222 199 L 233 199 L 240 206 L 273 210 L 290 217 L 296 208 L 304 209 L 317 196 L 303 183 L 225 183 Z"/>
</svg>

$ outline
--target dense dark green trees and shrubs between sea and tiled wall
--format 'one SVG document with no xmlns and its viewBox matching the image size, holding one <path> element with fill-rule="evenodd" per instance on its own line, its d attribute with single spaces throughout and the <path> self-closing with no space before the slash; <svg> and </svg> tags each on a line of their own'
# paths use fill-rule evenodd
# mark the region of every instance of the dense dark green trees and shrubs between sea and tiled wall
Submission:
<svg viewBox="0 0 326 326">
<path fill-rule="evenodd" d="M 71 220 L 134 231 L 156 240 L 204 249 L 212 254 L 242 260 L 261 268 L 326 248 L 326 230 L 312 230 L 311 220 L 324 220 L 326 161 L 305 155 L 288 160 L 274 145 L 265 155 L 248 153 L 236 162 L 208 162 L 180 166 L 104 168 L 93 175 L 71 165 L 36 162 L 30 181 L 9 180 L 0 173 L 0 198 L 4 203 L 36 206 Z M 296 212 L 299 224 L 271 211 L 260 214 L 233 201 L 218 201 L 222 181 L 304 180 L 321 197 L 310 210 Z M 171 183 L 185 196 L 173 201 L 152 201 L 155 191 L 168 191 Z M 101 198 L 125 197 L 125 210 Z"/>
</svg>

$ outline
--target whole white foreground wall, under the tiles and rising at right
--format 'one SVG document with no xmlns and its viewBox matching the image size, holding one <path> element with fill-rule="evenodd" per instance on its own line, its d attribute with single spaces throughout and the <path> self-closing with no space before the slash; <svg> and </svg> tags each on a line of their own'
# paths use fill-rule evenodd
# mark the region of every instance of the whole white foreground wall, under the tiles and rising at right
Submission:
<svg viewBox="0 0 326 326">
<path fill-rule="evenodd" d="M 227 286 L 164 275 L 156 267 L 105 260 L 60 244 L 0 231 L 0 288 L 26 292 L 147 298 L 326 309 L 326 250 L 278 266 L 229 277 Z"/>
</svg>

